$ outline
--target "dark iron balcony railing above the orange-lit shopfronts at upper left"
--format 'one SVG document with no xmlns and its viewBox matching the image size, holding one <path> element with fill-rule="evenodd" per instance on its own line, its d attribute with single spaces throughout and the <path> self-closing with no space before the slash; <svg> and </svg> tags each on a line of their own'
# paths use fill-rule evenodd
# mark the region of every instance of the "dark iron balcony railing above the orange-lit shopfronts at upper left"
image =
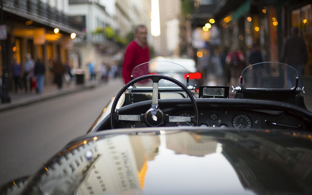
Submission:
<svg viewBox="0 0 312 195">
<path fill-rule="evenodd" d="M 75 26 L 75 21 L 71 21 L 70 17 L 55 8 L 50 7 L 40 0 L 2 0 L 3 6 L 14 11 L 26 13 L 35 17 L 46 20 L 53 20 L 66 26 Z"/>
</svg>

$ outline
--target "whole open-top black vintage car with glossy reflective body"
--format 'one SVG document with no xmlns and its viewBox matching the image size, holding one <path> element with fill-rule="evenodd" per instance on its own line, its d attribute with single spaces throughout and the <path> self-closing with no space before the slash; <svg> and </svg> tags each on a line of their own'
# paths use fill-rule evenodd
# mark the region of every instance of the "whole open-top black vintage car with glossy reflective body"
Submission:
<svg viewBox="0 0 312 195">
<path fill-rule="evenodd" d="M 251 65 L 230 88 L 138 74 L 149 64 L 84 136 L 0 194 L 312 194 L 312 112 L 291 67 Z"/>
</svg>

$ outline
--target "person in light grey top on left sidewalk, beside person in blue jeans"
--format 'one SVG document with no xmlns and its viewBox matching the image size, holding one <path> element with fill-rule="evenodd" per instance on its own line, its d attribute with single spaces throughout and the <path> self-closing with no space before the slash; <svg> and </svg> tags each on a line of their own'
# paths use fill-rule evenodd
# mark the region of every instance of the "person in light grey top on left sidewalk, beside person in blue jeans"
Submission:
<svg viewBox="0 0 312 195">
<path fill-rule="evenodd" d="M 32 92 L 32 77 L 34 76 L 35 61 L 32 59 L 32 55 L 30 53 L 26 53 L 25 57 L 26 59 L 24 62 L 24 76 L 22 80 L 25 87 L 25 93 L 27 93 L 27 83 L 29 83 L 29 90 L 30 92 Z"/>
</svg>

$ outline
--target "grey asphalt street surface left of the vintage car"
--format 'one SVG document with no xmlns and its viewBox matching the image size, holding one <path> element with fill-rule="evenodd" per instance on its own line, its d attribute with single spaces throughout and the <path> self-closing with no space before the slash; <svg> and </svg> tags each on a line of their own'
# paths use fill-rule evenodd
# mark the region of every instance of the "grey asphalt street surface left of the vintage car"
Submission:
<svg viewBox="0 0 312 195">
<path fill-rule="evenodd" d="M 72 139 L 84 135 L 121 80 L 0 113 L 0 185 L 34 174 Z"/>
</svg>

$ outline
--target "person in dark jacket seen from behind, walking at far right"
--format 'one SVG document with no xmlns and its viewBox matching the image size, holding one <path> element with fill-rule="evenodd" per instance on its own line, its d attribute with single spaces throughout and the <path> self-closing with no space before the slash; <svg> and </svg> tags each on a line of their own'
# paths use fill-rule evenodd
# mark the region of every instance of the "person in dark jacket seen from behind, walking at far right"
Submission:
<svg viewBox="0 0 312 195">
<path fill-rule="evenodd" d="M 281 61 L 295 68 L 298 73 L 298 87 L 302 88 L 303 69 L 308 62 L 308 52 L 305 40 L 298 36 L 299 28 L 291 28 L 291 36 L 285 41 L 282 49 Z M 295 87 L 295 71 L 287 68 L 287 85 L 289 88 Z"/>
</svg>

